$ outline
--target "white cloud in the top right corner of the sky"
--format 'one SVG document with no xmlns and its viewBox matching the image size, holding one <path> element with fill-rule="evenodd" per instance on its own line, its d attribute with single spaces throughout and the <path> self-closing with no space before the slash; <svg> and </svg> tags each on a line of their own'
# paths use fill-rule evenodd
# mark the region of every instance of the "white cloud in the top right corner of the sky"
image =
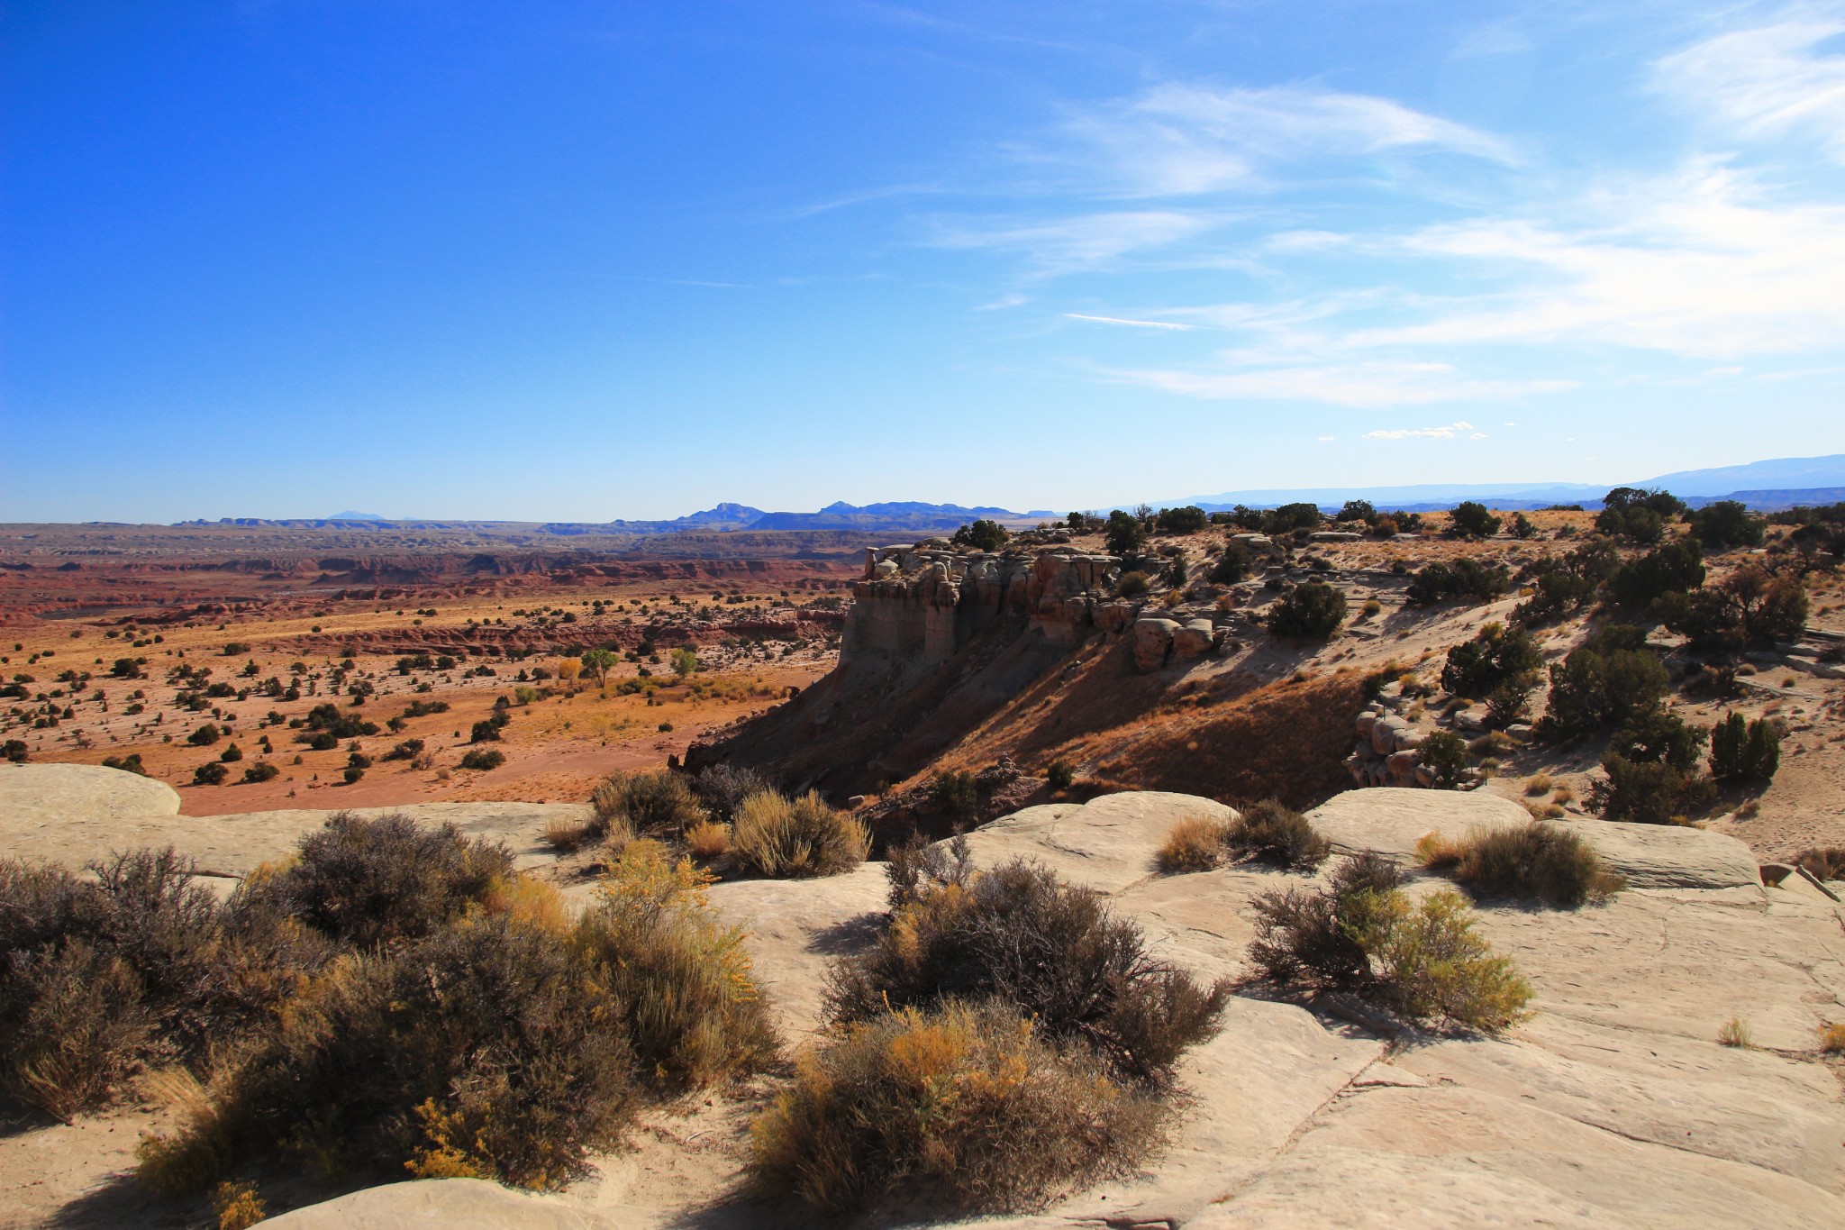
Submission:
<svg viewBox="0 0 1845 1230">
<path fill-rule="evenodd" d="M 1653 65 L 1653 81 L 1727 133 L 1810 135 L 1845 162 L 1845 55 L 1821 55 L 1845 20 L 1804 13 L 1718 35 Z"/>
</svg>

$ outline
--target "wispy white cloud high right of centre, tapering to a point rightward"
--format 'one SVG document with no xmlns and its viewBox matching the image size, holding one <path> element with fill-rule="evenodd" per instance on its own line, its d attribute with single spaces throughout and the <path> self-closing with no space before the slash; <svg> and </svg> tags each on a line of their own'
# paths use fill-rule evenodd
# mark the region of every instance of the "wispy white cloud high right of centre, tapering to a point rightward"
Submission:
<svg viewBox="0 0 1845 1230">
<path fill-rule="evenodd" d="M 1070 124 L 1124 195 L 1190 195 L 1260 186 L 1268 170 L 1328 157 L 1408 151 L 1513 162 L 1496 136 L 1371 94 L 1308 87 L 1203 89 L 1161 85 Z"/>
</svg>

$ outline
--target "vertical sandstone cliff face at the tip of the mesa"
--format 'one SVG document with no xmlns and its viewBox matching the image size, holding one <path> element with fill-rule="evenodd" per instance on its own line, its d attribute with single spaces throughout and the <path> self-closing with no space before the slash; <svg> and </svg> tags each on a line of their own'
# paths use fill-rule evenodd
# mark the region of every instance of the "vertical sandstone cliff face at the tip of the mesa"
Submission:
<svg viewBox="0 0 1845 1230">
<path fill-rule="evenodd" d="M 1074 645 L 1096 625 L 1096 609 L 1120 579 L 1113 555 L 1063 548 L 963 555 L 948 548 L 865 550 L 865 574 L 852 585 L 841 664 L 886 653 L 939 666 L 1002 614 L 1028 616 L 1057 644 Z"/>
</svg>

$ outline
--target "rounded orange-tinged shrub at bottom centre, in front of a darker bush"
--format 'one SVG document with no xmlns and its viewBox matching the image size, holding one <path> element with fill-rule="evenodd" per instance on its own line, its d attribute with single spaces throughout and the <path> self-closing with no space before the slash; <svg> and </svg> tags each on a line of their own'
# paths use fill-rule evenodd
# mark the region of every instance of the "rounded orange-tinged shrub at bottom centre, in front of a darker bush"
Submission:
<svg viewBox="0 0 1845 1230">
<path fill-rule="evenodd" d="M 828 1213 L 915 1197 L 1020 1210 L 1133 1173 L 1164 1119 L 1004 1005 L 948 1003 L 880 1014 L 804 1055 L 751 1125 L 751 1169 Z"/>
</svg>

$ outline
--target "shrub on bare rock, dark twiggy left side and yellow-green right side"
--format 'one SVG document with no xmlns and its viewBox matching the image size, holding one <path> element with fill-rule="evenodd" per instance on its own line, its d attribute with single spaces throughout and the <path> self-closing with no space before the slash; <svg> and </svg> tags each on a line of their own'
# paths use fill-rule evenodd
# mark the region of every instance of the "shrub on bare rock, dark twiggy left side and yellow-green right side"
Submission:
<svg viewBox="0 0 1845 1230">
<path fill-rule="evenodd" d="M 1408 1018 L 1502 1029 L 1531 988 L 1511 961 L 1491 955 L 1456 893 L 1411 904 L 1378 856 L 1358 856 L 1319 889 L 1255 900 L 1249 957 L 1279 983 L 1352 990 Z"/>
</svg>

